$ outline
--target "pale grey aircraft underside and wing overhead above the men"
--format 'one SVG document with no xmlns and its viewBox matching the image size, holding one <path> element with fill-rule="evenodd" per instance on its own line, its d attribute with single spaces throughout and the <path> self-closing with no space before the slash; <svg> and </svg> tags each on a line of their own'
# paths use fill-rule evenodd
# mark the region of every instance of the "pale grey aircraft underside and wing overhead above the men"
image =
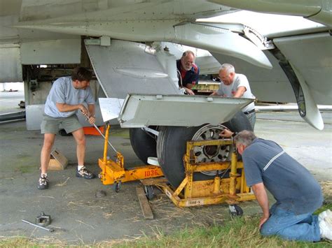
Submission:
<svg viewBox="0 0 332 248">
<path fill-rule="evenodd" d="M 269 39 L 241 24 L 196 21 L 239 9 L 301 15 L 325 24 L 326 29 Z M 202 68 L 209 67 L 205 70 L 207 73 L 216 71 L 220 63 L 228 62 L 248 77 L 253 74 L 249 80 L 258 99 L 295 99 L 300 115 L 321 129 L 321 117 L 314 106 L 331 102 L 332 56 L 328 33 L 331 13 L 328 0 L 305 1 L 305 4 L 293 0 L 277 4 L 252 0 L 2 0 L 0 82 L 24 80 L 29 93 L 27 105 L 42 104 L 49 89 L 43 82 L 67 75 L 68 65 L 90 66 L 91 61 L 99 80 L 116 82 L 116 86 L 102 84 L 107 96 L 123 97 L 130 90 L 139 94 L 174 94 L 178 90 L 174 86 L 176 76 L 170 70 L 172 66 L 165 62 L 167 59 L 158 59 L 158 51 L 150 51 L 151 56 L 157 56 L 151 60 L 155 63 L 139 58 L 130 61 L 126 59 L 130 57 L 130 50 L 126 50 L 125 45 L 128 42 L 134 46 L 144 44 L 141 46 L 146 54 L 155 42 L 172 42 L 211 52 L 216 63 L 211 58 L 197 59 Z M 116 55 L 118 57 L 105 60 L 109 63 L 108 70 L 107 64 L 100 64 L 100 58 L 92 59 L 97 55 L 92 52 L 93 44 L 87 44 L 85 49 L 85 39 L 104 50 L 112 50 L 112 44 L 120 43 L 124 50 Z M 317 52 L 312 48 L 317 48 Z M 135 65 L 130 66 L 133 63 Z M 53 67 L 44 70 L 39 66 L 43 64 Z M 145 78 L 139 78 L 141 75 Z"/>
</svg>

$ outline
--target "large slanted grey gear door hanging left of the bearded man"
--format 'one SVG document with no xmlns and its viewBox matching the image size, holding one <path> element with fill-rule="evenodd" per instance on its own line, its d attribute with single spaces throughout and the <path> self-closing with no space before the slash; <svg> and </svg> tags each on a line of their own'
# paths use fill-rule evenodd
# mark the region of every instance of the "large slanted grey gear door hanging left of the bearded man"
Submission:
<svg viewBox="0 0 332 248">
<path fill-rule="evenodd" d="M 107 97 L 125 99 L 128 93 L 179 94 L 157 57 L 145 52 L 144 44 L 111 41 L 109 47 L 86 45 L 86 48 Z"/>
</svg>

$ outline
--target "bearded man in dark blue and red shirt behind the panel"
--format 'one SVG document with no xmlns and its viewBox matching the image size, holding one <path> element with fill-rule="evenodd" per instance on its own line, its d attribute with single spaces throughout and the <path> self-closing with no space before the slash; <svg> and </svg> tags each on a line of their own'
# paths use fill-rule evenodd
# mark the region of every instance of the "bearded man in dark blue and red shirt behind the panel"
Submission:
<svg viewBox="0 0 332 248">
<path fill-rule="evenodd" d="M 195 65 L 195 54 L 191 50 L 184 52 L 181 59 L 177 60 L 177 73 L 179 87 L 184 89 L 186 94 L 194 95 L 192 88 L 198 84 L 200 68 Z"/>
</svg>

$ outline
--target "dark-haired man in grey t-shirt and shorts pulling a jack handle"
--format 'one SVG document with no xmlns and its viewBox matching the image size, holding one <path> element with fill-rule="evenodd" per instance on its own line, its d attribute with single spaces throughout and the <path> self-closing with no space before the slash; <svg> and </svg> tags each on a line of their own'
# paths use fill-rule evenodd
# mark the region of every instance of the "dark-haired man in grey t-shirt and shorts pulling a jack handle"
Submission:
<svg viewBox="0 0 332 248">
<path fill-rule="evenodd" d="M 59 78 L 53 82 L 46 99 L 43 122 L 41 122 L 44 142 L 41 149 L 41 177 L 39 177 L 37 184 L 38 189 L 48 189 L 47 168 L 50 162 L 50 151 L 60 124 L 76 140 L 78 160 L 76 177 L 85 179 L 95 177 L 84 166 L 85 136 L 83 127 L 76 116 L 76 112 L 81 110 L 82 114 L 88 117 L 90 124 L 95 123 L 95 100 L 89 86 L 91 78 L 90 71 L 83 67 L 77 67 L 74 68 L 71 77 Z M 88 108 L 83 103 L 88 104 Z"/>
</svg>

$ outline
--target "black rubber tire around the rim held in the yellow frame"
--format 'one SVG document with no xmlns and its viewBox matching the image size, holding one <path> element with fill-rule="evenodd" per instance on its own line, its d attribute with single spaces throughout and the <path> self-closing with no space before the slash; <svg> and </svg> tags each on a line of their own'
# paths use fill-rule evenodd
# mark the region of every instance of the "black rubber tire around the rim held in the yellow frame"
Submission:
<svg viewBox="0 0 332 248">
<path fill-rule="evenodd" d="M 238 112 L 233 119 L 223 125 L 233 132 L 252 130 L 249 120 L 242 112 Z M 191 140 L 202 126 L 160 128 L 157 142 L 158 163 L 174 188 L 177 188 L 185 177 L 183 156 L 186 153 L 186 141 Z M 194 174 L 194 180 L 209 180 L 213 177 L 202 173 Z"/>
</svg>

